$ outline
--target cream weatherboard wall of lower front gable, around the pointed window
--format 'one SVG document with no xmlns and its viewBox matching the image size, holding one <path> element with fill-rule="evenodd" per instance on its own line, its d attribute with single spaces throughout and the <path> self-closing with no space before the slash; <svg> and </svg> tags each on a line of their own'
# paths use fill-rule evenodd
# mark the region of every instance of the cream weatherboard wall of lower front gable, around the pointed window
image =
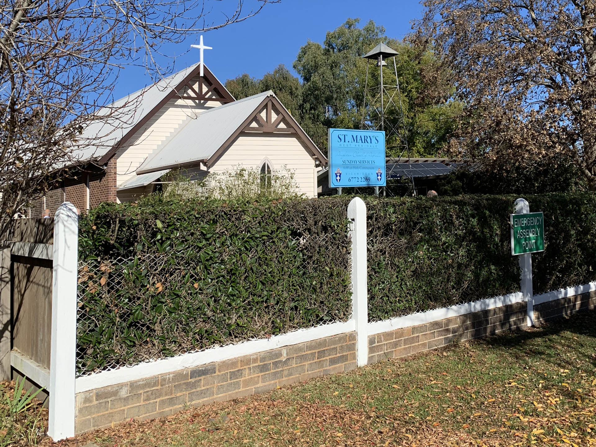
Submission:
<svg viewBox="0 0 596 447">
<path fill-rule="evenodd" d="M 294 172 L 300 194 L 316 197 L 315 161 L 296 135 L 241 134 L 209 168 L 209 172 L 224 172 L 239 166 L 259 169 L 265 158 L 273 164 L 275 170 L 283 170 L 285 166 Z"/>
</svg>

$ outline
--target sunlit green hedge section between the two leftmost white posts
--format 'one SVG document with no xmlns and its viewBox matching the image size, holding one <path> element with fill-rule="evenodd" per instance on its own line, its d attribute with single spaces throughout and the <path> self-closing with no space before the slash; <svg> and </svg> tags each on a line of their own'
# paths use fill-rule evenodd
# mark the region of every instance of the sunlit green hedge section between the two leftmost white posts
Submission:
<svg viewBox="0 0 596 447">
<path fill-rule="evenodd" d="M 77 373 L 345 321 L 333 201 L 103 204 L 80 221 Z"/>
</svg>

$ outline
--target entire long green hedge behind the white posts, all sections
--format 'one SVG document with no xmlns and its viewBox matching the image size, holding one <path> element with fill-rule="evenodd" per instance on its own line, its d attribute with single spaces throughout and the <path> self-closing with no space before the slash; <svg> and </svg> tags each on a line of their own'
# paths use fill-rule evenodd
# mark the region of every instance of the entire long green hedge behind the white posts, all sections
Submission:
<svg viewBox="0 0 596 447">
<path fill-rule="evenodd" d="M 80 221 L 77 371 L 345 321 L 351 198 L 156 196 L 92 210 Z M 516 198 L 366 198 L 369 320 L 518 291 Z M 526 198 L 545 216 L 535 293 L 596 280 L 596 196 Z"/>
</svg>

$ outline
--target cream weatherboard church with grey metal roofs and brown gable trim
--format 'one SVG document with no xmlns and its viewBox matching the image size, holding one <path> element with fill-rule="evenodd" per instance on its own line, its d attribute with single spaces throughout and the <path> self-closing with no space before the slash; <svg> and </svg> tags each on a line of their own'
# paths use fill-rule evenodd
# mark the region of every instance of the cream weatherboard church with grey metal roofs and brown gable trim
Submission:
<svg viewBox="0 0 596 447">
<path fill-rule="evenodd" d="M 30 216 L 45 209 L 53 215 L 63 201 L 80 212 L 104 201 L 135 201 L 156 191 L 170 170 L 196 179 L 239 167 L 285 169 L 298 194 L 316 197 L 317 172 L 327 158 L 275 94 L 235 100 L 201 65 L 105 107 L 114 117 L 83 131 L 76 175 L 36 200 Z"/>
</svg>

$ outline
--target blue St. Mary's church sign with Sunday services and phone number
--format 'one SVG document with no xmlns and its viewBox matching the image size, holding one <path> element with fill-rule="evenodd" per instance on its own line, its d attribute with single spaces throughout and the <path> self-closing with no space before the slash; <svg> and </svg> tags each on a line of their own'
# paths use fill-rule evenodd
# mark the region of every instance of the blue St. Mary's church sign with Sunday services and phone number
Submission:
<svg viewBox="0 0 596 447">
<path fill-rule="evenodd" d="M 386 185 L 385 132 L 329 129 L 329 187 Z"/>
</svg>

